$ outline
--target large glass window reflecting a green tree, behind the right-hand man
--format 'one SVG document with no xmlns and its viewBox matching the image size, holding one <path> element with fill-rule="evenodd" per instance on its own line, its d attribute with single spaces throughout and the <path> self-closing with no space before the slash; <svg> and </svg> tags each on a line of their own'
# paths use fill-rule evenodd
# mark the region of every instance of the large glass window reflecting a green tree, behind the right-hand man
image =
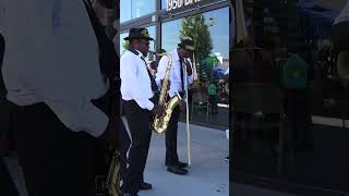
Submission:
<svg viewBox="0 0 349 196">
<path fill-rule="evenodd" d="M 212 102 L 209 115 L 219 120 L 210 123 L 228 126 L 229 110 L 222 106 L 226 107 L 228 103 L 224 78 L 229 68 L 229 8 L 164 23 L 161 49 L 166 51 L 176 49 L 182 37 L 191 37 L 195 42 L 192 61 L 195 64 L 196 81 L 191 86 L 195 91 L 191 102 L 198 101 L 198 97 L 207 105 Z M 207 122 L 206 118 L 200 115 L 193 115 L 193 120 Z"/>
</svg>

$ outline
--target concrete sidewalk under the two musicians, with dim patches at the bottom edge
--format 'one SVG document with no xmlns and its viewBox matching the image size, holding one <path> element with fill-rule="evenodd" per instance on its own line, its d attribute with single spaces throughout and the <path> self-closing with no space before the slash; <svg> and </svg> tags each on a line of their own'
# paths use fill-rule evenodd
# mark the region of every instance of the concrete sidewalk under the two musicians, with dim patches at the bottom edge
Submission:
<svg viewBox="0 0 349 196">
<path fill-rule="evenodd" d="M 224 159 L 229 151 L 226 133 L 203 126 L 191 125 L 192 167 L 188 175 L 176 175 L 166 171 L 165 135 L 153 134 L 149 155 L 145 169 L 145 181 L 153 189 L 140 192 L 140 196 L 228 196 L 229 164 Z M 178 152 L 186 160 L 185 124 L 179 123 Z M 27 196 L 24 181 L 15 158 L 7 161 L 12 176 L 20 187 L 21 196 Z M 233 196 L 294 196 L 250 185 L 232 184 Z"/>
</svg>

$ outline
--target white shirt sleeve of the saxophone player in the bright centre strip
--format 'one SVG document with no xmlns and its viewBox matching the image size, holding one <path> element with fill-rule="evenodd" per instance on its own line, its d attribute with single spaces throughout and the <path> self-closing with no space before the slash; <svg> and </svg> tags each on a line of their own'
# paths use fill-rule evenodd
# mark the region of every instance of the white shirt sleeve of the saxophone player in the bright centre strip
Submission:
<svg viewBox="0 0 349 196">
<path fill-rule="evenodd" d="M 121 58 L 120 64 L 121 83 L 124 83 L 124 85 L 128 86 L 128 91 L 131 94 L 132 98 L 142 109 L 153 110 L 154 103 L 143 95 L 141 83 L 144 82 L 144 78 L 141 77 L 141 74 L 137 74 L 141 70 L 137 70 L 140 68 L 137 68 L 136 61 L 132 59 L 132 56 L 128 56 Z"/>
</svg>

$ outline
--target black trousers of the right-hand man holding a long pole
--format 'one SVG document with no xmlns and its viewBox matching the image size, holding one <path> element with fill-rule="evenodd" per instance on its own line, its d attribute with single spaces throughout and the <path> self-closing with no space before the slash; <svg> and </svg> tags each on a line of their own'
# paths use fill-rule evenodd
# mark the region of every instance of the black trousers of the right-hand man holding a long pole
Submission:
<svg viewBox="0 0 349 196">
<path fill-rule="evenodd" d="M 168 124 L 167 131 L 165 132 L 166 139 L 166 166 L 176 166 L 179 161 L 177 154 L 177 131 L 178 131 L 178 121 L 180 117 L 180 108 L 177 106 Z"/>
</svg>

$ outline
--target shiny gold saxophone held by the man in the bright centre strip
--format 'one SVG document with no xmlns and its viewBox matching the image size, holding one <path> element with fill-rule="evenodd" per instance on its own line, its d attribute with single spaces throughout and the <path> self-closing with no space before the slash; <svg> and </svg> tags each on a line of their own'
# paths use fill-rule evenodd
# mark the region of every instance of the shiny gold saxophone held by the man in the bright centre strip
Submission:
<svg viewBox="0 0 349 196">
<path fill-rule="evenodd" d="M 169 84 L 170 84 L 169 77 L 170 77 L 170 72 L 171 72 L 171 68 L 172 68 L 172 57 L 169 53 L 163 53 L 159 56 L 166 56 L 169 59 L 168 64 L 167 64 L 167 69 L 165 72 L 165 77 L 163 81 L 163 86 L 160 89 L 160 96 L 159 96 L 159 102 L 158 102 L 158 105 L 165 106 L 165 114 L 161 117 L 155 115 L 153 124 L 152 124 L 152 130 L 155 133 L 161 134 L 161 133 L 165 133 L 165 131 L 167 130 L 168 123 L 171 119 L 172 111 L 176 108 L 176 106 L 179 105 L 179 102 L 182 100 L 182 98 L 179 94 L 177 94 L 170 100 L 167 100 L 167 97 L 168 97 L 167 91 L 169 89 Z"/>
</svg>

